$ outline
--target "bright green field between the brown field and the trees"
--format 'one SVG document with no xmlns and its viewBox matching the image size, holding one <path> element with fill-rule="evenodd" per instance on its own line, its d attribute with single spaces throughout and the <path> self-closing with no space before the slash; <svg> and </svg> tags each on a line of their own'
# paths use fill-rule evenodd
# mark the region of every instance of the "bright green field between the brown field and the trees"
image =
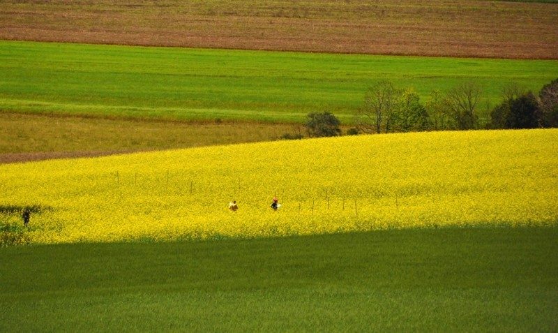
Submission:
<svg viewBox="0 0 558 333">
<path fill-rule="evenodd" d="M 0 110 L 15 112 L 300 122 L 329 111 L 347 124 L 377 80 L 423 98 L 472 80 L 495 105 L 506 84 L 538 92 L 556 77 L 558 61 L 0 42 Z"/>
</svg>

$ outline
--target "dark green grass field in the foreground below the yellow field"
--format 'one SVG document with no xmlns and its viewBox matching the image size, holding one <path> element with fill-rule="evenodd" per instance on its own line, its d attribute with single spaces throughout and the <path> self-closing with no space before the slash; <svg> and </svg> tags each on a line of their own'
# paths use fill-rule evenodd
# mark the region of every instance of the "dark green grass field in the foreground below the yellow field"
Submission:
<svg viewBox="0 0 558 333">
<path fill-rule="evenodd" d="M 0 249 L 0 332 L 558 330 L 558 228 Z"/>
</svg>

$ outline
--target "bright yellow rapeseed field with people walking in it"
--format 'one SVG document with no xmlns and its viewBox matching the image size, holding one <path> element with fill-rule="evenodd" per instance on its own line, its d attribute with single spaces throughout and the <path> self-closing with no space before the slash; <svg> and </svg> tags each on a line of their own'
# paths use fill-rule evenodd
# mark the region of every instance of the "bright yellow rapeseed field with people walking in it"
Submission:
<svg viewBox="0 0 558 333">
<path fill-rule="evenodd" d="M 31 214 L 35 243 L 550 225 L 558 221 L 558 130 L 361 135 L 0 165 L 0 184 L 0 205 L 50 208 Z"/>
</svg>

